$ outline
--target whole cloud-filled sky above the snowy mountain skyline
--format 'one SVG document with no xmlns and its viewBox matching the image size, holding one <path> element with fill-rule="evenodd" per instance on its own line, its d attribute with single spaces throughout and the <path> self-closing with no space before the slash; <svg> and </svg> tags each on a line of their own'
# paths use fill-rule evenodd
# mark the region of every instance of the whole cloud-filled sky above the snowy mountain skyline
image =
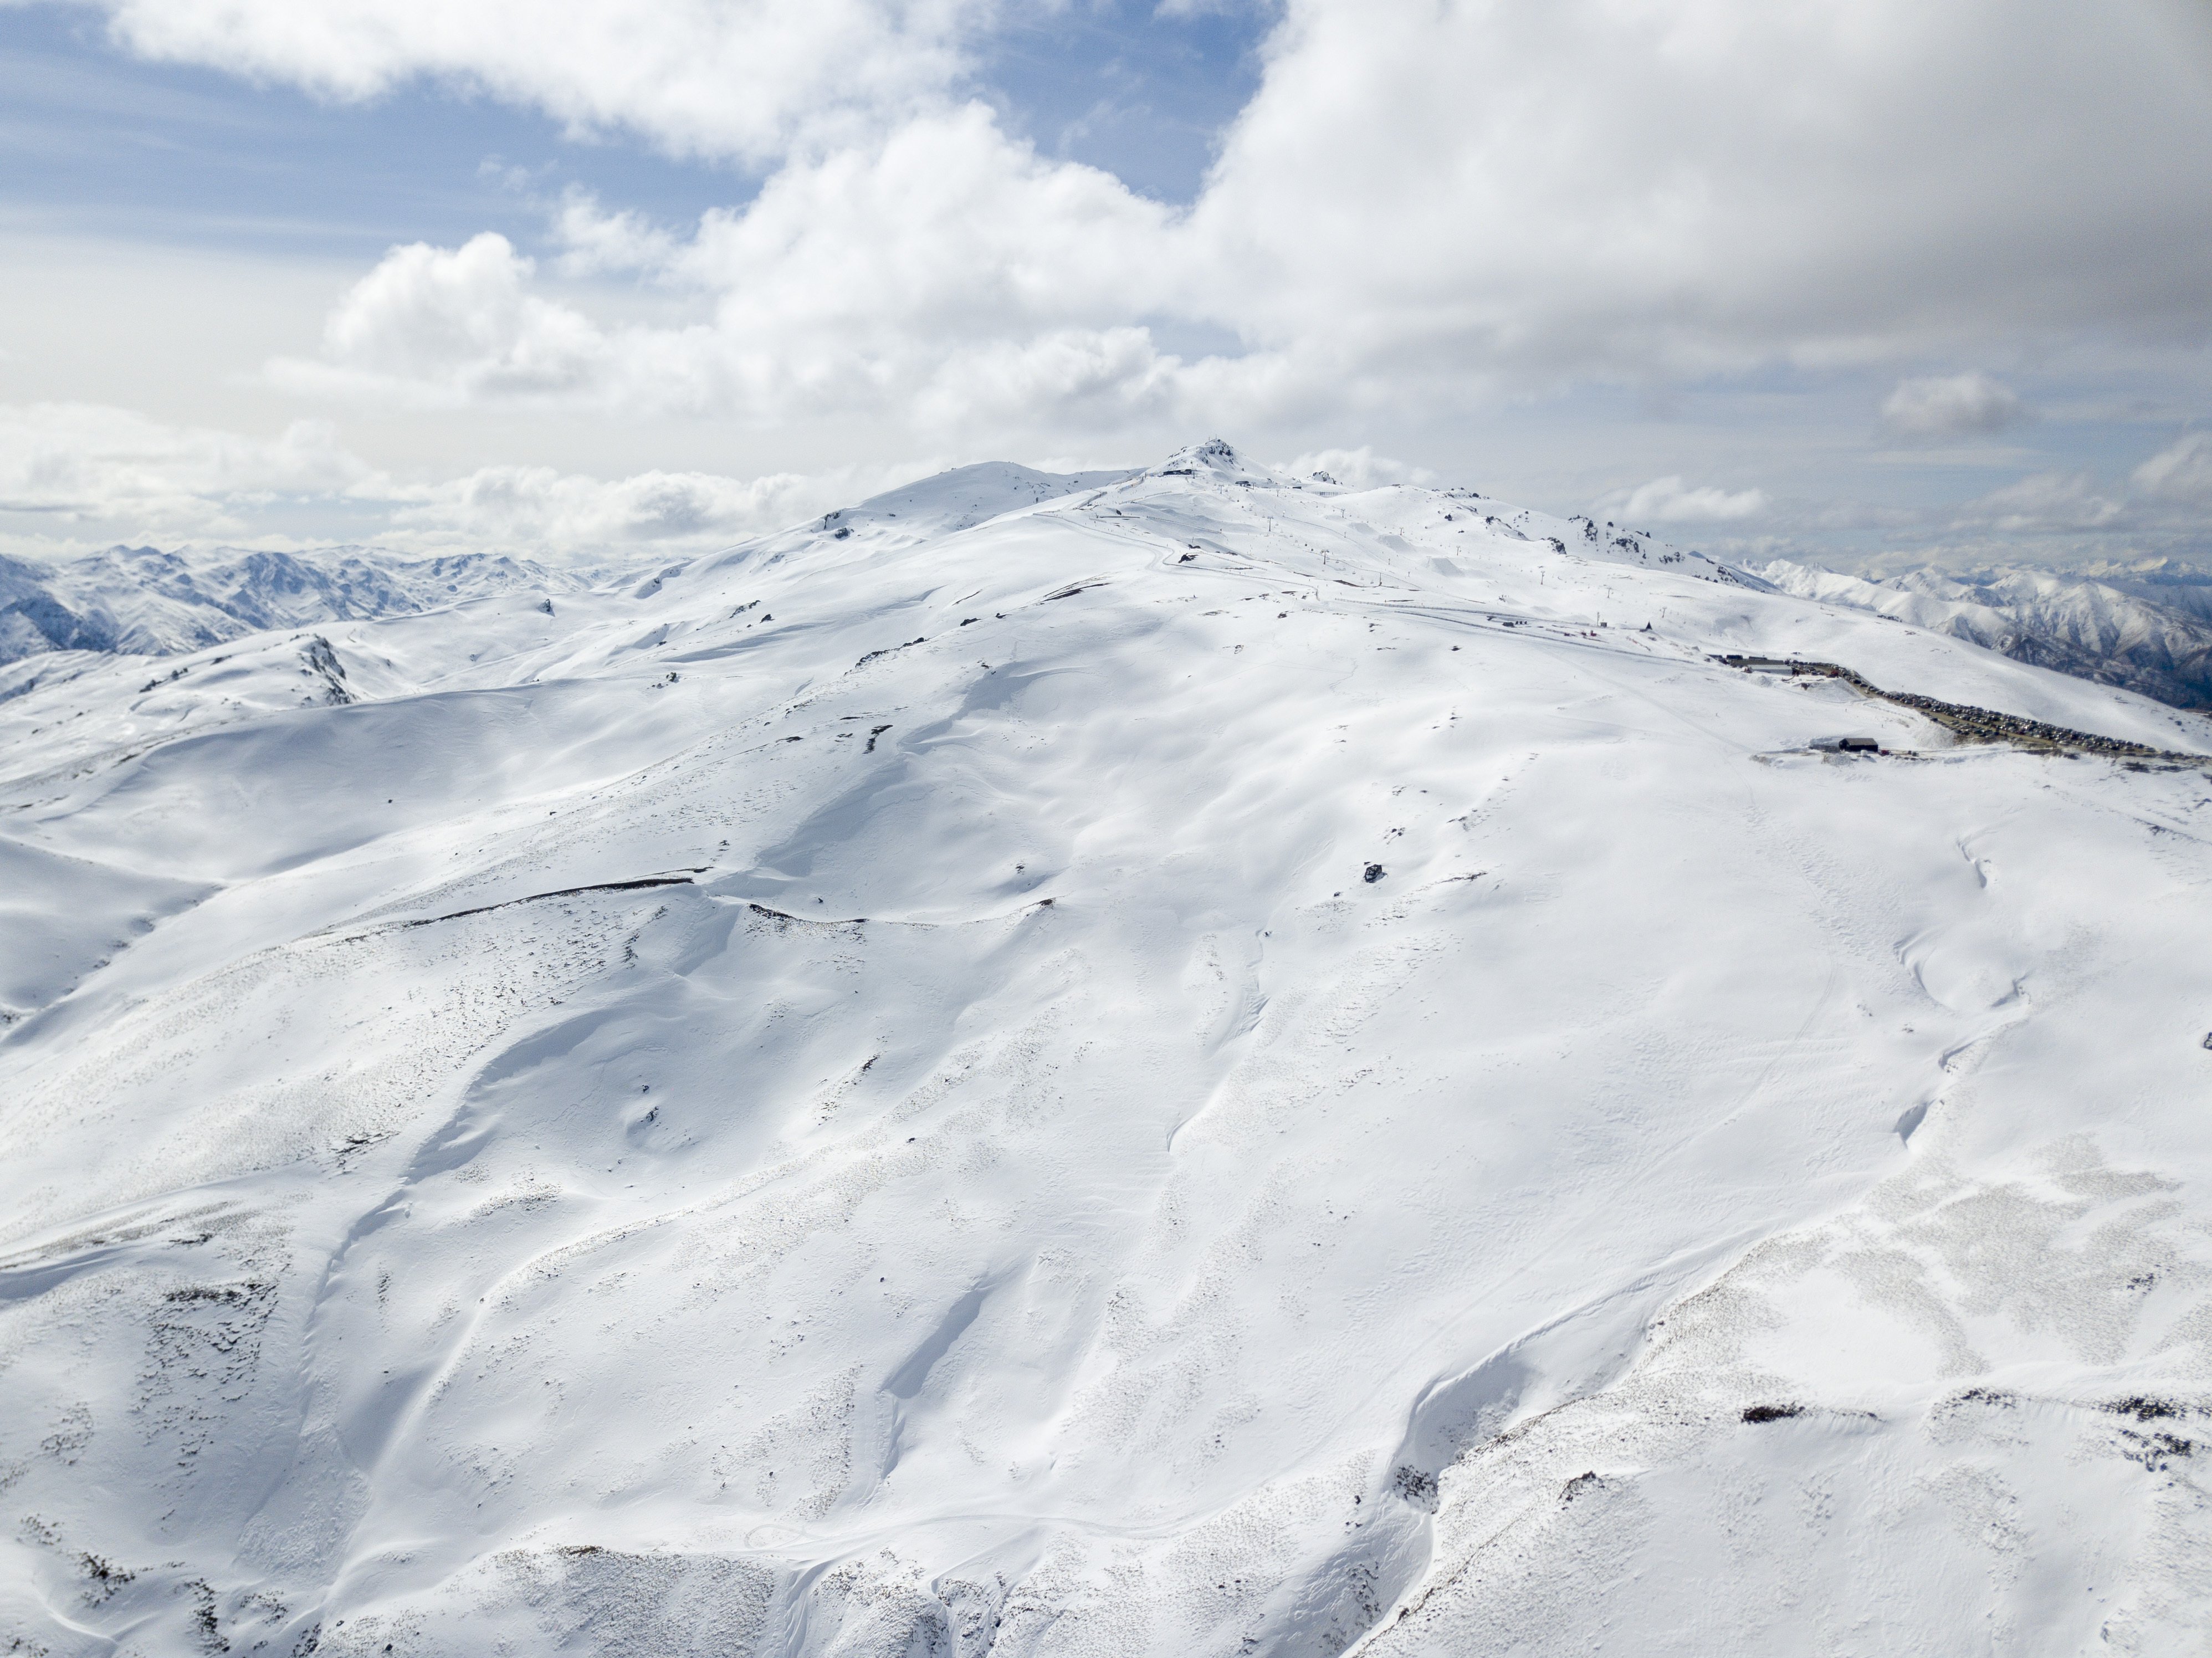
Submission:
<svg viewBox="0 0 2212 1658">
<path fill-rule="evenodd" d="M 582 556 L 1219 432 L 2212 558 L 2212 29 L 2020 2 L 0 0 L 0 542 Z"/>
</svg>

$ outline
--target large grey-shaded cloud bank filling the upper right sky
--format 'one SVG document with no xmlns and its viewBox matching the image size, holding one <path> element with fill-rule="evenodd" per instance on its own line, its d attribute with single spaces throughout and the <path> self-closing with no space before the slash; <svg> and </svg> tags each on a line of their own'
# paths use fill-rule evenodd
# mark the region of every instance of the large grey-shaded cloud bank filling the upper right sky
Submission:
<svg viewBox="0 0 2212 1658">
<path fill-rule="evenodd" d="M 1863 363 L 2212 321 L 2208 142 L 2141 0 L 1294 0 L 1192 232 L 1217 314 L 1400 396 Z"/>
</svg>

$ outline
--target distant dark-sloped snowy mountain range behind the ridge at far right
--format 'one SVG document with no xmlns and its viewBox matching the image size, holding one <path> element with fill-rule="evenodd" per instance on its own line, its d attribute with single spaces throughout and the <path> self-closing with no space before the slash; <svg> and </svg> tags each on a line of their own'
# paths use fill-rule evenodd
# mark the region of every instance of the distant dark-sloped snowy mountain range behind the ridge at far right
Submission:
<svg viewBox="0 0 2212 1658">
<path fill-rule="evenodd" d="M 2212 578 L 2197 571 L 2015 564 L 1863 578 L 1790 560 L 1754 569 L 1785 593 L 1851 604 L 2177 708 L 2212 708 Z"/>
</svg>

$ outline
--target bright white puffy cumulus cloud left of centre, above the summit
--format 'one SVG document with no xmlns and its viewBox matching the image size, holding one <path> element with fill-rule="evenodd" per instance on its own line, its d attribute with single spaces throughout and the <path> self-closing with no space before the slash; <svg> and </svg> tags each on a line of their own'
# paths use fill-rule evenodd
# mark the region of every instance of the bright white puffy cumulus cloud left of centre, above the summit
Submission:
<svg viewBox="0 0 2212 1658">
<path fill-rule="evenodd" d="M 403 403 L 891 414 L 929 434 L 1181 421 L 1223 390 L 1221 367 L 1197 374 L 1126 321 L 1172 312 L 1190 288 L 1168 219 L 971 104 L 794 164 L 681 243 L 588 199 L 562 206 L 573 259 L 644 268 L 695 301 L 695 321 L 595 319 L 484 232 L 394 248 L 341 299 L 321 356 L 270 374 Z"/>
</svg>

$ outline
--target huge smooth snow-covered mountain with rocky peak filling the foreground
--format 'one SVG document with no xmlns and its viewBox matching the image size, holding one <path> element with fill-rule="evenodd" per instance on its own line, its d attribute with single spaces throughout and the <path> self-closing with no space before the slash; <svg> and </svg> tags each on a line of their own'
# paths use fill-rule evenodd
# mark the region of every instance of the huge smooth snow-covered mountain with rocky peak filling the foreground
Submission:
<svg viewBox="0 0 2212 1658">
<path fill-rule="evenodd" d="M 1225 445 L 164 673 L 0 704 L 18 1651 L 2201 1645 L 2201 715 Z"/>
</svg>

